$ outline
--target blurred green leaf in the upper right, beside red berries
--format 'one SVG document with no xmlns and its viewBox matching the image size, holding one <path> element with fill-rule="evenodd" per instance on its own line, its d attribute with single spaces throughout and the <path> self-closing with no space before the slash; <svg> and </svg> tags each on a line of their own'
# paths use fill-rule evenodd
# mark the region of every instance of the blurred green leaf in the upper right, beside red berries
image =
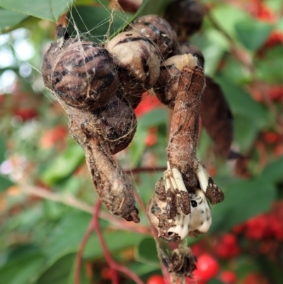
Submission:
<svg viewBox="0 0 283 284">
<path fill-rule="evenodd" d="M 254 18 L 247 18 L 239 21 L 235 25 L 239 40 L 245 45 L 248 50 L 255 52 L 270 35 L 273 25 L 260 21 L 255 21 Z"/>
</svg>

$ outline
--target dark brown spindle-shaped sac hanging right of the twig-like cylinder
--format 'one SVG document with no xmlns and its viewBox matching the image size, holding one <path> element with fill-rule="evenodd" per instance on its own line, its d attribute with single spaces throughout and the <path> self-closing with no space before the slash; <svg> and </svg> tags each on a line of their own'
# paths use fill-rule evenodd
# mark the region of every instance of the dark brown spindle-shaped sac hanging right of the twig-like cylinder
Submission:
<svg viewBox="0 0 283 284">
<path fill-rule="evenodd" d="M 233 142 L 233 118 L 223 91 L 213 79 L 207 77 L 202 94 L 200 115 L 202 124 L 224 157 L 228 157 Z"/>
</svg>

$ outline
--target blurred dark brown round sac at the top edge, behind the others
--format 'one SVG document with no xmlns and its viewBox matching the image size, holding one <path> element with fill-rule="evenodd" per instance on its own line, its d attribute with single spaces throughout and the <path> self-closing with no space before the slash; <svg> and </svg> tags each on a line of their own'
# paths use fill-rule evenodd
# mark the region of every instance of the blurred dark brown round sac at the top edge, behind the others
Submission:
<svg viewBox="0 0 283 284">
<path fill-rule="evenodd" d="M 198 1 L 178 0 L 173 1 L 166 8 L 166 20 L 176 31 L 179 40 L 200 30 L 204 18 L 204 8 Z"/>
</svg>

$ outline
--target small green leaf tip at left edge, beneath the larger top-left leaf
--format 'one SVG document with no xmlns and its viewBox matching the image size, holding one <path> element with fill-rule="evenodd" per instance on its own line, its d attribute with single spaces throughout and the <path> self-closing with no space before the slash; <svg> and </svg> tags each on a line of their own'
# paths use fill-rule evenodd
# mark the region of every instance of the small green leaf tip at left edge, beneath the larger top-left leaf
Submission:
<svg viewBox="0 0 283 284">
<path fill-rule="evenodd" d="M 13 25 L 23 22 L 28 15 L 25 13 L 0 8 L 0 33 L 10 30 Z"/>
</svg>

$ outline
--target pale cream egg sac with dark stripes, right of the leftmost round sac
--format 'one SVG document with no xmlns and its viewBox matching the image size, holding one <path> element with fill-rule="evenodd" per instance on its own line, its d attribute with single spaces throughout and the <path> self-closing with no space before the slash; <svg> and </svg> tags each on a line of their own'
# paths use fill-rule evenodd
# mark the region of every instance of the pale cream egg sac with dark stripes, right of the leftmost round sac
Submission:
<svg viewBox="0 0 283 284">
<path fill-rule="evenodd" d="M 116 35 L 106 45 L 117 65 L 122 93 L 132 107 L 159 76 L 160 59 L 154 42 L 135 31 Z"/>
</svg>

